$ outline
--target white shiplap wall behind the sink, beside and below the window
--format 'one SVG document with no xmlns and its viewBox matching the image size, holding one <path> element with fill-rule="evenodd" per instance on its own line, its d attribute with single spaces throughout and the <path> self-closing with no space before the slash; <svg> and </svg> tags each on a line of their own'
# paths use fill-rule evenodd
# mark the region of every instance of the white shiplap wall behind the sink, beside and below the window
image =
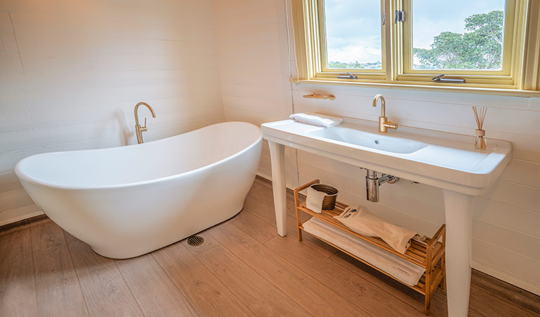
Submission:
<svg viewBox="0 0 540 317">
<path fill-rule="evenodd" d="M 224 0 L 216 1 L 216 6 L 227 120 L 259 124 L 287 118 L 289 100 L 283 96 L 292 93 L 295 112 L 333 113 L 351 122 L 377 121 L 380 108 L 373 108 L 371 101 L 382 93 L 387 116 L 403 126 L 424 128 L 427 133 L 474 135 L 470 106 L 489 107 L 487 137 L 512 142 L 513 160 L 501 180 L 475 198 L 472 265 L 540 294 L 540 98 L 289 85 L 284 0 Z M 290 62 L 294 65 L 294 56 Z M 336 100 L 302 98 L 309 92 L 332 93 Z M 289 158 L 294 159 L 294 154 Z M 381 201 L 370 203 L 365 200 L 363 170 L 302 151 L 297 158 L 300 182 L 320 178 L 339 188 L 341 201 L 364 204 L 398 225 L 427 235 L 444 223 L 440 189 L 402 180 L 382 186 Z M 289 175 L 295 173 L 294 167 L 291 163 Z M 270 176 L 268 152 L 263 154 L 260 174 Z"/>
</svg>

